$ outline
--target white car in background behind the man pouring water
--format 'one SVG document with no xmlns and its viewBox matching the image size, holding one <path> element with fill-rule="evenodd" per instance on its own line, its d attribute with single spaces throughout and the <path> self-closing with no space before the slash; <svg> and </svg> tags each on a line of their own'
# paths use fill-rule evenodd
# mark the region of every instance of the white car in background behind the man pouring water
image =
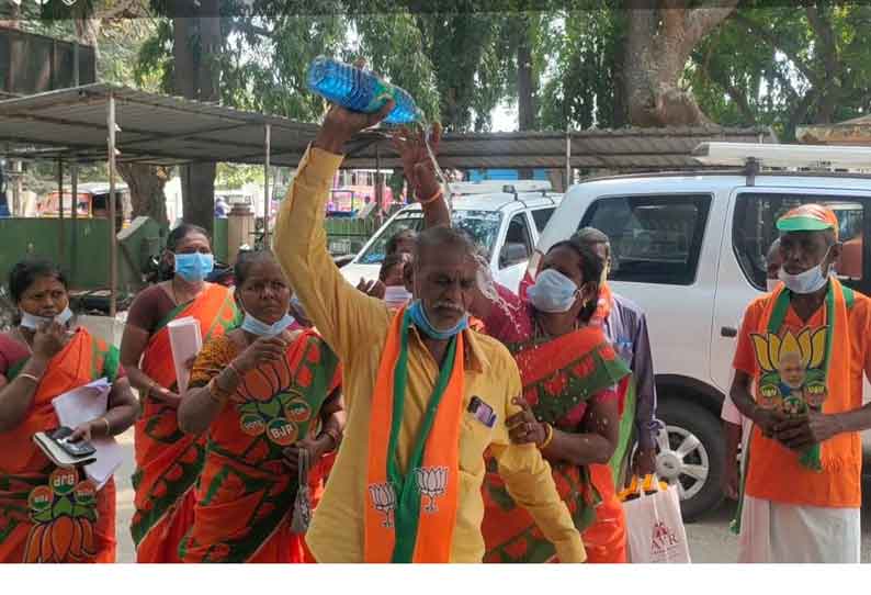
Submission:
<svg viewBox="0 0 871 595">
<path fill-rule="evenodd" d="M 483 248 L 494 279 L 514 291 L 539 234 L 562 200 L 562 194 L 551 192 L 550 188 L 550 182 L 465 183 L 454 188 L 454 192 L 462 190 L 463 194 L 453 198 L 453 225 L 465 229 Z M 354 284 L 361 278 L 377 279 L 387 240 L 408 228 L 423 228 L 419 204 L 400 210 L 375 232 L 363 249 L 341 268 L 344 278 Z"/>
</svg>

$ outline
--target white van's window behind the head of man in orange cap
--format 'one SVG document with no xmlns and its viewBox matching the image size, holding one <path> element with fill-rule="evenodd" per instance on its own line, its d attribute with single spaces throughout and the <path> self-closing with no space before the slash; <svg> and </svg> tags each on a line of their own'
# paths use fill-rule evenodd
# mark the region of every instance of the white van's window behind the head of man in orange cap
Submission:
<svg viewBox="0 0 871 595">
<path fill-rule="evenodd" d="M 838 239 L 844 243 L 838 277 L 848 285 L 862 280 L 862 228 L 864 199 L 813 194 L 768 194 L 742 192 L 735 202 L 732 243 L 747 280 L 757 289 L 766 288 L 766 256 L 779 232 L 777 220 L 790 209 L 815 202 L 826 204 L 838 217 Z"/>
</svg>

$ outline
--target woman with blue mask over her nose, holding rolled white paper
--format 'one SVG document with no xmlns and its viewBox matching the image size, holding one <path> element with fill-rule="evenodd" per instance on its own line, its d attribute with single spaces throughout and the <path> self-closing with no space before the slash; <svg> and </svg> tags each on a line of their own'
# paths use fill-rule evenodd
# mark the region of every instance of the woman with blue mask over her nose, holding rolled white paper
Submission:
<svg viewBox="0 0 871 595">
<path fill-rule="evenodd" d="M 181 397 L 170 344 L 170 322 L 199 321 L 203 341 L 223 335 L 236 322 L 230 290 L 206 283 L 214 258 L 206 232 L 180 225 L 167 238 L 163 265 L 170 279 L 144 290 L 127 315 L 121 361 L 139 391 L 136 423 L 136 513 L 131 532 L 138 562 L 178 562 L 181 537 L 193 521 L 193 487 L 202 469 L 204 445 L 180 429 Z"/>
</svg>

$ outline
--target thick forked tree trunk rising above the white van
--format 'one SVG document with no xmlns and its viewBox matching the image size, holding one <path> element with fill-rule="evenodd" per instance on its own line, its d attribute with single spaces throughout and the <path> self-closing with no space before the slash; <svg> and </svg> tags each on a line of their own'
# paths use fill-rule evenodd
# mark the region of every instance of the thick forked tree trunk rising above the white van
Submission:
<svg viewBox="0 0 871 595">
<path fill-rule="evenodd" d="M 627 0 L 629 40 L 625 68 L 629 119 L 634 126 L 699 126 L 710 124 L 691 94 L 679 87 L 695 44 L 722 23 L 738 0 L 720 0 L 717 8 L 667 8 L 670 0 Z"/>
</svg>

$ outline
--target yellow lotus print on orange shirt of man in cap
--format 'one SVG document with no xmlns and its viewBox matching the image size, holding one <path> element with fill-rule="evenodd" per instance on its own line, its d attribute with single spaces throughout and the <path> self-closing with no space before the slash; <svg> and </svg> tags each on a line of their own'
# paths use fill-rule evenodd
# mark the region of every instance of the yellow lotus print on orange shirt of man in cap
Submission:
<svg viewBox="0 0 871 595">
<path fill-rule="evenodd" d="M 788 330 L 783 338 L 751 335 L 756 360 L 761 370 L 760 405 L 790 414 L 806 406 L 819 407 L 826 400 L 824 360 L 826 327 L 804 328 L 798 335 Z"/>
</svg>

